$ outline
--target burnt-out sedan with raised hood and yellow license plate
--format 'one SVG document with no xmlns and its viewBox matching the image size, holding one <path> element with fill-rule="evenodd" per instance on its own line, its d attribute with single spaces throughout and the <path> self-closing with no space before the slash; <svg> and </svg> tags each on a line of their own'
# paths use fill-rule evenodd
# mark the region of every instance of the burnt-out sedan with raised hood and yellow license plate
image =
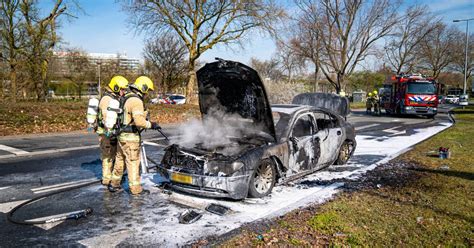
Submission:
<svg viewBox="0 0 474 248">
<path fill-rule="evenodd" d="M 263 197 L 275 184 L 345 164 L 356 148 L 354 127 L 345 121 L 346 98 L 308 93 L 292 104 L 270 105 L 257 72 L 226 60 L 206 64 L 197 79 L 204 125 L 217 120 L 238 132 L 228 131 L 222 144 L 168 146 L 158 169 L 175 190 Z"/>
</svg>

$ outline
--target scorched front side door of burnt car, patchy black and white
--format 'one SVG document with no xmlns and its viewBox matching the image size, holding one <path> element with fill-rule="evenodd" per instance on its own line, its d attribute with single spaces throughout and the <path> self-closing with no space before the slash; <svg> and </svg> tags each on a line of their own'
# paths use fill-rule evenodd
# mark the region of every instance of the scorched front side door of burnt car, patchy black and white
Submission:
<svg viewBox="0 0 474 248">
<path fill-rule="evenodd" d="M 315 122 L 312 113 L 305 113 L 293 122 L 288 139 L 289 170 L 293 175 L 310 170 L 318 162 L 319 141 L 314 136 Z"/>
</svg>

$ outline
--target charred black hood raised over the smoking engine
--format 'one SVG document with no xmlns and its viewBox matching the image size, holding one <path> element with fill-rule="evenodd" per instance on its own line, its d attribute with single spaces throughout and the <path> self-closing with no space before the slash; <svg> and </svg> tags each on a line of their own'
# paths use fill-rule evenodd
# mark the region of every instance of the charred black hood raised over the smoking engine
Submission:
<svg viewBox="0 0 474 248">
<path fill-rule="evenodd" d="M 233 125 L 236 121 L 237 125 L 251 125 L 253 131 L 262 131 L 276 141 L 270 103 L 255 70 L 239 62 L 219 60 L 198 70 L 197 81 L 204 120 L 237 116 Z"/>
</svg>

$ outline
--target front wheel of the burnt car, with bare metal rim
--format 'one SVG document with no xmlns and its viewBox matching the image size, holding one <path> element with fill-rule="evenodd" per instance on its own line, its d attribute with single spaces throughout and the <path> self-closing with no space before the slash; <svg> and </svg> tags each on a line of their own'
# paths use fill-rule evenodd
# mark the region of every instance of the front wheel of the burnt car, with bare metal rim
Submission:
<svg viewBox="0 0 474 248">
<path fill-rule="evenodd" d="M 269 159 L 260 161 L 250 178 L 249 196 L 261 198 L 270 194 L 275 182 L 276 169 L 273 162 Z"/>
</svg>

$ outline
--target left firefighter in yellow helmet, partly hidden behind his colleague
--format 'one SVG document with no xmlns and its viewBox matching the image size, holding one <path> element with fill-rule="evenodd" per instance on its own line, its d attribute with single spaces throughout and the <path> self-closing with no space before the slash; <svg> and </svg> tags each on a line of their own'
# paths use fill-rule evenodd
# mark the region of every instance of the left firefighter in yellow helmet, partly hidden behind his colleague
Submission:
<svg viewBox="0 0 474 248">
<path fill-rule="evenodd" d="M 117 137 L 108 135 L 104 124 L 107 119 L 107 107 L 112 99 L 119 100 L 125 94 L 128 80 L 114 76 L 99 101 L 97 134 L 99 135 L 100 158 L 102 159 L 102 184 L 109 185 L 112 178 L 113 161 L 117 152 Z"/>
</svg>

